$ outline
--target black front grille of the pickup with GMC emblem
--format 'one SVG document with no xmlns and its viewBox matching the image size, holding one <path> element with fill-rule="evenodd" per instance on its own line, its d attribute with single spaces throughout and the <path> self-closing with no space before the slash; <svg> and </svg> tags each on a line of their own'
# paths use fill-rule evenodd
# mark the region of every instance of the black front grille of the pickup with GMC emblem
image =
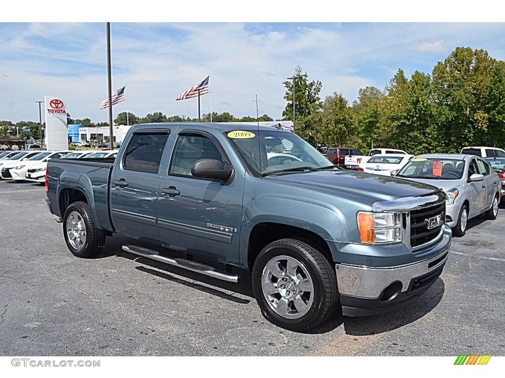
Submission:
<svg viewBox="0 0 505 378">
<path fill-rule="evenodd" d="M 433 223 L 439 219 L 441 219 L 440 224 L 433 226 Z M 410 221 L 411 247 L 429 243 L 440 234 L 445 222 L 445 201 L 411 211 Z"/>
</svg>

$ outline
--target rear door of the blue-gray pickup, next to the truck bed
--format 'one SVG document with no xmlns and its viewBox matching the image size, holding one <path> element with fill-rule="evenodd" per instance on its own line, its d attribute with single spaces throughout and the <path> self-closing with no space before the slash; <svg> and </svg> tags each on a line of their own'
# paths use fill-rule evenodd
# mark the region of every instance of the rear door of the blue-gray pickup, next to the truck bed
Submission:
<svg viewBox="0 0 505 378">
<path fill-rule="evenodd" d="M 171 129 L 139 130 L 116 161 L 111 177 L 111 217 L 116 232 L 159 242 L 156 225 L 161 161 Z"/>
</svg>

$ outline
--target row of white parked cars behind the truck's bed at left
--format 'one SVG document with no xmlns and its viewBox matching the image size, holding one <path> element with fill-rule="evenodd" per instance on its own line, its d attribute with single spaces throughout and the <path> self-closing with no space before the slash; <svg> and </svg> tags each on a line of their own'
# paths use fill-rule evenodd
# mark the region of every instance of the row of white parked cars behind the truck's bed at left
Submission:
<svg viewBox="0 0 505 378">
<path fill-rule="evenodd" d="M 2 151 L 1 178 L 16 181 L 45 181 L 45 168 L 50 159 L 115 157 L 118 151 Z"/>
</svg>

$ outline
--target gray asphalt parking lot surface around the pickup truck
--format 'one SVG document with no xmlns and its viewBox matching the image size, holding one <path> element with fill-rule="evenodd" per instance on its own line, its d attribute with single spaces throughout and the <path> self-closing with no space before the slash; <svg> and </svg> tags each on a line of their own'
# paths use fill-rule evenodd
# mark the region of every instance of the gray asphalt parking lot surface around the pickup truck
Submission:
<svg viewBox="0 0 505 378">
<path fill-rule="evenodd" d="M 310 334 L 266 321 L 250 277 L 238 284 L 125 253 L 107 238 L 75 258 L 39 184 L 0 181 L 2 356 L 505 355 L 505 210 L 453 238 L 444 271 L 409 305 L 335 316 Z"/>
</svg>

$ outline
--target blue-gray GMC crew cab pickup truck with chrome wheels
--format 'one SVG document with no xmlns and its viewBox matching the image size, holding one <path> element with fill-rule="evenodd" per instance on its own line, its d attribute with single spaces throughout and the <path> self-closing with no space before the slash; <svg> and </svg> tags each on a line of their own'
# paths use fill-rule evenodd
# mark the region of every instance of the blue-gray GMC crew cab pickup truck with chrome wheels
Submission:
<svg viewBox="0 0 505 378">
<path fill-rule="evenodd" d="M 264 316 L 294 331 L 406 304 L 451 241 L 443 191 L 343 170 L 271 127 L 138 124 L 115 159 L 50 160 L 46 186 L 75 256 L 117 233 L 143 244 L 129 253 L 217 279 L 250 270 Z"/>
</svg>

